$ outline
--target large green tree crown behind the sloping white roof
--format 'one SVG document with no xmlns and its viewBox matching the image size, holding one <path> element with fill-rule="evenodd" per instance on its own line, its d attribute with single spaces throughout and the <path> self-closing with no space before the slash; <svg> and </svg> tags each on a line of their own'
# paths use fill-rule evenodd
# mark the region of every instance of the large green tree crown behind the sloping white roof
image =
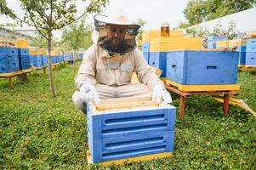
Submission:
<svg viewBox="0 0 256 170">
<path fill-rule="evenodd" d="M 255 4 L 255 0 L 190 0 L 184 10 L 186 26 L 194 26 L 203 21 L 253 8 Z M 181 26 L 184 26 L 184 23 Z"/>
</svg>

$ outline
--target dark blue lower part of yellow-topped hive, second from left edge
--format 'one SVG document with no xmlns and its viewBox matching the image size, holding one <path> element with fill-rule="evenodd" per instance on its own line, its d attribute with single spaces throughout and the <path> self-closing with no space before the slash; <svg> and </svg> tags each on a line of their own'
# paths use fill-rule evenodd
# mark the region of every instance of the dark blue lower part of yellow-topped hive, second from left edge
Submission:
<svg viewBox="0 0 256 170">
<path fill-rule="evenodd" d="M 31 67 L 29 60 L 29 51 L 25 48 L 18 48 L 19 54 L 19 67 L 21 70 L 26 70 Z"/>
</svg>

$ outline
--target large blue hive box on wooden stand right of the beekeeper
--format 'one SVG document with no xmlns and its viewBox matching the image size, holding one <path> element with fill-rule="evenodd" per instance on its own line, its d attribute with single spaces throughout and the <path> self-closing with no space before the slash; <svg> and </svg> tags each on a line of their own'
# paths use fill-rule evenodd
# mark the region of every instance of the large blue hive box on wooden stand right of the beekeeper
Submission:
<svg viewBox="0 0 256 170">
<path fill-rule="evenodd" d="M 232 51 L 173 51 L 167 57 L 167 80 L 179 84 L 235 84 L 238 53 Z"/>
</svg>

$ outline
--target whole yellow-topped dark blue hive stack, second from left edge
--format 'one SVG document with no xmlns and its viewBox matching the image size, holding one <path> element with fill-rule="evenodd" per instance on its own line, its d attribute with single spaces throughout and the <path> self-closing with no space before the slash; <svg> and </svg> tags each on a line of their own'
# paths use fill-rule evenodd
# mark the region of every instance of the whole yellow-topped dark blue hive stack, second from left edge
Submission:
<svg viewBox="0 0 256 170">
<path fill-rule="evenodd" d="M 17 40 L 16 45 L 18 48 L 19 55 L 19 67 L 21 70 L 26 70 L 31 67 L 29 51 L 28 51 L 28 41 L 26 40 Z"/>
</svg>

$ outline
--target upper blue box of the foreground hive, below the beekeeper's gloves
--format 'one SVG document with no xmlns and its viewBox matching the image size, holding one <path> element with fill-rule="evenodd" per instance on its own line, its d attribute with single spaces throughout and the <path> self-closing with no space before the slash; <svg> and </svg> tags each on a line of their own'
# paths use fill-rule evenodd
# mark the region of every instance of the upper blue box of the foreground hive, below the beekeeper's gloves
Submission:
<svg viewBox="0 0 256 170">
<path fill-rule="evenodd" d="M 139 133 L 154 133 L 174 130 L 176 108 L 145 109 L 143 111 L 121 111 L 92 115 L 88 107 L 88 135 L 94 139 L 105 139 Z"/>
</svg>

